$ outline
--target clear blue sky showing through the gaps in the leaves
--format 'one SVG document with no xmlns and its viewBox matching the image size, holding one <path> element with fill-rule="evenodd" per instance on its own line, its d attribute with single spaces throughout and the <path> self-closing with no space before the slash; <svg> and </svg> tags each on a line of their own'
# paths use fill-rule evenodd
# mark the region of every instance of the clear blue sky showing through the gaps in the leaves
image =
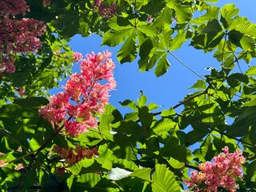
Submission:
<svg viewBox="0 0 256 192">
<path fill-rule="evenodd" d="M 240 15 L 249 18 L 250 21 L 255 22 L 255 0 L 220 0 L 217 6 L 223 6 L 226 3 L 234 3 L 240 8 Z M 112 52 L 112 59 L 116 64 L 114 70 L 114 77 L 118 83 L 116 90 L 111 92 L 110 104 L 117 107 L 118 110 L 126 112 L 127 110 L 119 106 L 118 102 L 125 99 L 136 100 L 139 97 L 139 91 L 148 97 L 148 102 L 155 102 L 162 109 L 170 108 L 194 90 L 187 90 L 188 87 L 193 86 L 199 78 L 190 70 L 182 66 L 175 58 L 169 56 L 170 68 L 168 72 L 162 77 L 157 78 L 154 75 L 154 70 L 149 72 L 140 72 L 138 70 L 138 59 L 131 63 L 120 64 L 117 60 L 118 47 L 101 46 L 102 38 L 97 35 L 91 35 L 89 38 L 82 38 L 75 36 L 70 42 L 70 46 L 76 52 L 82 54 L 102 52 L 103 50 L 110 50 Z M 181 49 L 173 52 L 186 65 L 190 66 L 200 75 L 210 74 L 210 71 L 204 70 L 207 66 L 220 69 L 220 64 L 212 57 L 212 54 L 204 54 L 202 50 L 195 50 L 188 46 L 186 42 Z M 246 65 L 245 63 L 242 63 Z M 74 64 L 78 65 L 78 64 Z M 251 63 L 253 66 L 254 63 Z M 78 70 L 78 66 L 74 66 L 74 71 Z"/>
</svg>

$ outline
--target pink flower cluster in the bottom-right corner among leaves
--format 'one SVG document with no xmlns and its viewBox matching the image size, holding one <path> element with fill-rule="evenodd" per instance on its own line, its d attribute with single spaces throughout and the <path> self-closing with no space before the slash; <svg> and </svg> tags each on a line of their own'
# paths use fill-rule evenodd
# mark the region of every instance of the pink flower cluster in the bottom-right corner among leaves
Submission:
<svg viewBox="0 0 256 192">
<path fill-rule="evenodd" d="M 185 180 L 186 186 L 191 187 L 192 191 L 218 191 L 223 188 L 230 192 L 238 189 L 235 182 L 236 178 L 242 179 L 241 164 L 246 162 L 246 158 L 242 156 L 242 150 L 236 150 L 234 153 L 229 153 L 229 148 L 225 146 L 224 153 L 213 158 L 213 162 L 205 162 L 199 166 L 201 171 L 191 171 L 190 180 Z M 205 183 L 202 189 L 199 186 Z"/>
</svg>

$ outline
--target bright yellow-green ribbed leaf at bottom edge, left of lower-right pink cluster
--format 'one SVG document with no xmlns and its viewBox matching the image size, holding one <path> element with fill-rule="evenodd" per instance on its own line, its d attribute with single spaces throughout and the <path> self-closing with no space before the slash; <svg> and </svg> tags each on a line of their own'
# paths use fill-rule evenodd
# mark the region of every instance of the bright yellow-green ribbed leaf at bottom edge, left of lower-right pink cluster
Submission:
<svg viewBox="0 0 256 192">
<path fill-rule="evenodd" d="M 176 182 L 175 175 L 166 168 L 166 165 L 156 165 L 152 178 L 153 192 L 180 192 L 181 186 Z"/>
</svg>

